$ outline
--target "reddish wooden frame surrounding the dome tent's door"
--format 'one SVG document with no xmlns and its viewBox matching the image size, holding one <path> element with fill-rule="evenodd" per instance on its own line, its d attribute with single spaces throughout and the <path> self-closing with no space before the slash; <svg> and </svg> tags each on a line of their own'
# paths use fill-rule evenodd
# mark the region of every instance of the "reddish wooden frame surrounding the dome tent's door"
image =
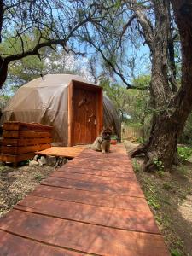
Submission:
<svg viewBox="0 0 192 256">
<path fill-rule="evenodd" d="M 96 92 L 96 137 L 102 131 L 103 125 L 103 100 L 102 87 L 98 85 L 88 84 L 77 80 L 72 80 L 68 86 L 68 147 L 75 145 L 74 142 L 74 90 L 82 88 Z"/>
</svg>

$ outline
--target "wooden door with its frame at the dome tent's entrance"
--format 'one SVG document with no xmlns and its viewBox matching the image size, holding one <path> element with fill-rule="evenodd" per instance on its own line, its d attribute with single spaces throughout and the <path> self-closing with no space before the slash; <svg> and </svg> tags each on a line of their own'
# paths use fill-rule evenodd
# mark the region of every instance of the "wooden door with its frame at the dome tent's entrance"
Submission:
<svg viewBox="0 0 192 256">
<path fill-rule="evenodd" d="M 68 87 L 68 146 L 93 143 L 102 131 L 102 87 L 72 80 Z"/>
</svg>

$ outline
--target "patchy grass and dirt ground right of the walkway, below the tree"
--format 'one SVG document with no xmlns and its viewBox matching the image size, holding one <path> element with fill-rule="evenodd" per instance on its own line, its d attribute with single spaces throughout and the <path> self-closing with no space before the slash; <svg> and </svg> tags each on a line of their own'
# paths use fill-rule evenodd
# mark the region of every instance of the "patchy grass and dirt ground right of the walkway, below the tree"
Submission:
<svg viewBox="0 0 192 256">
<path fill-rule="evenodd" d="M 127 151 L 137 144 L 125 142 Z M 143 172 L 142 158 L 132 159 L 154 218 L 172 256 L 192 256 L 192 163 L 172 172 Z"/>
</svg>

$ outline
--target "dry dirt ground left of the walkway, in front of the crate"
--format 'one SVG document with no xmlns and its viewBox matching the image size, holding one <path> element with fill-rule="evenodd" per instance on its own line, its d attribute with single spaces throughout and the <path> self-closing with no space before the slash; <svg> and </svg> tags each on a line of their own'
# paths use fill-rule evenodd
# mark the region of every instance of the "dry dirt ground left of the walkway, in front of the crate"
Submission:
<svg viewBox="0 0 192 256">
<path fill-rule="evenodd" d="M 42 179 L 54 170 L 51 166 L 0 165 L 0 217 L 9 212 L 18 201 L 35 189 Z"/>
</svg>

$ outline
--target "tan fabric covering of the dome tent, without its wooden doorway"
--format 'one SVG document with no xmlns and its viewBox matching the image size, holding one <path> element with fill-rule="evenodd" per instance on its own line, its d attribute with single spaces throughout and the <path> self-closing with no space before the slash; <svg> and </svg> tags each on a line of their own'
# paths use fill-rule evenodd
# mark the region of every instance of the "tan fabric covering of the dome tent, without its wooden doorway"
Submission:
<svg viewBox="0 0 192 256">
<path fill-rule="evenodd" d="M 79 75 L 47 74 L 20 87 L 3 110 L 3 121 L 19 120 L 55 124 L 59 137 L 67 137 L 67 87 L 72 81 L 91 84 Z M 96 85 L 96 84 L 92 84 Z M 120 123 L 113 103 L 103 97 L 104 125 L 113 124 L 120 137 Z M 49 116 L 49 118 L 48 118 Z"/>
</svg>

